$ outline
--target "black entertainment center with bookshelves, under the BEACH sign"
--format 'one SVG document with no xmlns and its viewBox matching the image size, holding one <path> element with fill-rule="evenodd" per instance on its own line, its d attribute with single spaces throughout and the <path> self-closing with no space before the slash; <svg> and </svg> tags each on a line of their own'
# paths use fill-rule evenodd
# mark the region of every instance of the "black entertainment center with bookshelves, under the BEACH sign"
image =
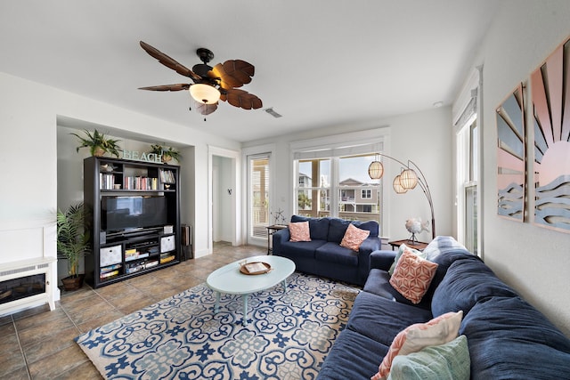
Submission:
<svg viewBox="0 0 570 380">
<path fill-rule="evenodd" d="M 102 287 L 181 259 L 179 166 L 118 158 L 84 160 L 92 255 L 85 280 Z"/>
</svg>

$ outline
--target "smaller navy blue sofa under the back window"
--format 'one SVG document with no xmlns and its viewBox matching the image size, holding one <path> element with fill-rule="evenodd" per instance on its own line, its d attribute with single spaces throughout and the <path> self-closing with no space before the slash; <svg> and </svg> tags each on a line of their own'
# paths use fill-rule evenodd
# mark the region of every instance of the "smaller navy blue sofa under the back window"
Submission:
<svg viewBox="0 0 570 380">
<path fill-rule="evenodd" d="M 379 224 L 339 218 L 309 218 L 293 215 L 291 222 L 309 222 L 311 241 L 289 241 L 289 228 L 273 234 L 273 255 L 288 257 L 297 271 L 364 285 L 370 271 L 370 255 L 381 247 Z M 348 224 L 371 233 L 358 252 L 340 247 Z"/>
</svg>

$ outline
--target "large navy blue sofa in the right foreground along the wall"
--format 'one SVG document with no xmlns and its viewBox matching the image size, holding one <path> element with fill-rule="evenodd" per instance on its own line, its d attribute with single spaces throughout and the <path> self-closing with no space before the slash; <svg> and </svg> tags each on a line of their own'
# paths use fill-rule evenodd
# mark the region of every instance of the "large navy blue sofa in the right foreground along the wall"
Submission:
<svg viewBox="0 0 570 380">
<path fill-rule="evenodd" d="M 444 247 L 428 256 L 439 266 L 416 305 L 388 282 L 394 258 L 392 251 L 372 253 L 370 276 L 318 379 L 370 379 L 401 330 L 460 310 L 459 334 L 467 336 L 471 379 L 570 378 L 570 339 L 476 255 Z"/>
</svg>

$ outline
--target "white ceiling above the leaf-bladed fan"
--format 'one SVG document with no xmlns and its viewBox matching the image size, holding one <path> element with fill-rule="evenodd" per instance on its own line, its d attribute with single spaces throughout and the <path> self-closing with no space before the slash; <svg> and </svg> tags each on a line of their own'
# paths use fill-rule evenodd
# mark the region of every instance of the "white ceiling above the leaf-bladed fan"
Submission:
<svg viewBox="0 0 570 380">
<path fill-rule="evenodd" d="M 0 71 L 236 141 L 362 123 L 450 104 L 497 0 L 14 0 L 0 4 Z M 191 67 L 256 67 L 242 89 L 264 102 L 221 102 L 207 117 L 190 95 L 138 90 L 191 83 L 139 45 Z M 282 117 L 264 109 L 273 107 Z"/>
</svg>

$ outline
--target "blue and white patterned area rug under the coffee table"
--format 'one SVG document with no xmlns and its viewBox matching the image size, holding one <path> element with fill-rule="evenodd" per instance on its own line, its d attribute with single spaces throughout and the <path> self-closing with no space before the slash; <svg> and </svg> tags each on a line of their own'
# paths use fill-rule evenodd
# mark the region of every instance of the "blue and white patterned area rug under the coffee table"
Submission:
<svg viewBox="0 0 570 380">
<path fill-rule="evenodd" d="M 280 286 L 240 295 L 201 284 L 102 327 L 76 342 L 110 379 L 314 379 L 359 290 L 293 273 Z"/>
</svg>

